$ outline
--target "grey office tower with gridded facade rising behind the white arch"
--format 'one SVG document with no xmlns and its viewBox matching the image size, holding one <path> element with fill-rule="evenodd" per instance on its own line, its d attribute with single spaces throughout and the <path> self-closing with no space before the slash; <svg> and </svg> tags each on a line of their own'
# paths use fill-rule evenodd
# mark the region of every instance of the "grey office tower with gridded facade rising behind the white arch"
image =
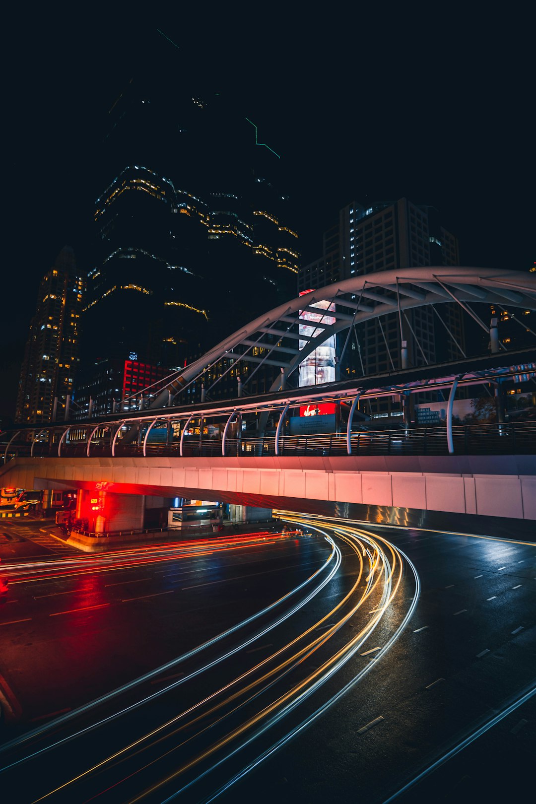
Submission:
<svg viewBox="0 0 536 804">
<path fill-rule="evenodd" d="M 391 269 L 426 265 L 459 265 L 456 237 L 440 223 L 436 209 L 408 199 L 363 207 L 351 203 L 339 212 L 338 224 L 325 232 L 324 254 L 301 269 L 300 291 L 333 281 Z M 410 366 L 460 357 L 460 348 L 446 336 L 442 322 L 463 349 L 463 320 L 454 303 L 409 310 L 403 318 Z M 346 339 L 346 334 L 342 340 Z M 339 343 L 341 338 L 339 338 Z M 340 351 L 340 350 L 339 350 Z M 398 312 L 355 327 L 340 366 L 341 379 L 396 371 L 402 367 Z M 398 401 L 381 400 L 376 414 L 400 412 Z"/>
</svg>

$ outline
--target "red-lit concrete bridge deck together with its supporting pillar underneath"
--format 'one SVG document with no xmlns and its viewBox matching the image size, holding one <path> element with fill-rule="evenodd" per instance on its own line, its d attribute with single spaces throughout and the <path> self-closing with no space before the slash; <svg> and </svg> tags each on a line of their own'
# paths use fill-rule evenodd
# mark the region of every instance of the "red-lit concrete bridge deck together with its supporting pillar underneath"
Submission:
<svg viewBox="0 0 536 804">
<path fill-rule="evenodd" d="M 0 469 L 0 482 L 77 489 L 82 518 L 98 498 L 101 513 L 89 518 L 96 538 L 143 528 L 146 511 L 174 497 L 443 529 L 469 515 L 488 520 L 482 532 L 498 517 L 536 530 L 531 455 L 16 458 Z"/>
</svg>

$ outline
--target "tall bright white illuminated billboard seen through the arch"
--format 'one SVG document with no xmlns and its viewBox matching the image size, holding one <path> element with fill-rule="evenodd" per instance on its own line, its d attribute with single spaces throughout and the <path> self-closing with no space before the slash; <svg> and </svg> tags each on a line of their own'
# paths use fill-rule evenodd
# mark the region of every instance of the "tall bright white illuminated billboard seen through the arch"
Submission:
<svg viewBox="0 0 536 804">
<path fill-rule="evenodd" d="M 307 293 L 312 293 L 311 290 L 304 290 L 300 293 L 304 296 Z M 333 312 L 335 305 L 333 301 L 314 301 L 309 307 L 317 308 L 318 312 L 313 313 L 312 310 L 301 310 L 301 321 L 309 322 L 307 324 L 300 324 L 300 334 L 308 335 L 309 337 L 316 337 L 321 334 L 322 328 L 314 326 L 315 324 L 325 324 L 330 326 L 335 323 L 335 318 L 331 315 L 326 315 L 326 312 Z M 300 349 L 303 349 L 308 341 L 300 341 Z M 300 388 L 307 385 L 321 385 L 323 383 L 333 383 L 335 381 L 335 336 L 331 335 L 320 347 L 317 347 L 310 355 L 308 355 L 300 363 Z M 309 414 L 310 415 L 310 414 Z"/>
</svg>

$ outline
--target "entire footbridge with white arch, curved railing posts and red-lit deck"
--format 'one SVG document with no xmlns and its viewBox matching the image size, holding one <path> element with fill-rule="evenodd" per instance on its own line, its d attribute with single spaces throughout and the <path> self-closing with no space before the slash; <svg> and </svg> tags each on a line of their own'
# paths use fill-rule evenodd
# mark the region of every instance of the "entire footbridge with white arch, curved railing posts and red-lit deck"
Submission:
<svg viewBox="0 0 536 804">
<path fill-rule="evenodd" d="M 300 330 L 300 310 L 315 311 L 313 305 L 318 301 L 333 302 L 335 309 L 330 317 L 334 323 L 318 322 L 314 336 L 306 338 L 302 345 L 305 336 Z M 468 359 L 462 352 L 463 359 L 455 364 L 410 369 L 403 350 L 401 370 L 387 375 L 338 381 L 313 389 L 288 388 L 289 378 L 297 375 L 301 361 L 329 336 L 393 312 L 398 312 L 402 333 L 405 311 L 452 301 L 489 332 L 491 355 Z M 481 454 L 472 454 L 467 444 L 460 449 L 460 440 L 456 442 L 452 428 L 456 388 L 474 384 L 497 387 L 509 380 L 519 382 L 516 378 L 520 376 L 531 378 L 536 374 L 536 349 L 507 352 L 498 340 L 497 326 L 489 329 L 472 310 L 474 301 L 536 310 L 536 277 L 492 269 L 438 267 L 378 272 L 319 289 L 305 300 L 300 297 L 269 311 L 182 369 L 153 399 L 150 409 L 144 407 L 143 400 L 137 409 L 132 407 L 132 400 L 123 400 L 113 415 L 52 422 L 40 425 L 41 430 L 26 425 L 17 433 L 7 434 L 1 485 L 76 488 L 80 490 L 79 518 L 91 519 L 84 516 L 88 501 L 97 501 L 99 513 L 92 517 L 89 529 L 100 534 L 141 528 L 150 507 L 164 507 L 174 497 L 215 499 L 261 508 L 344 511 L 345 515 L 353 512 L 360 519 L 403 520 L 420 523 L 421 527 L 424 520 L 440 523 L 445 516 L 450 522 L 456 516 L 499 517 L 509 519 L 513 527 L 526 523 L 534 530 L 536 458 L 533 442 L 526 441 L 526 433 L 534 440 L 534 432 L 522 433 L 523 441 L 518 437 L 516 449 L 509 453 L 509 445 L 516 446 L 519 431 L 500 423 L 493 443 L 477 450 Z M 259 346 L 262 358 L 254 354 Z M 272 392 L 262 398 L 214 402 L 206 396 L 203 381 L 218 360 L 229 363 L 227 371 L 231 365 L 236 369 L 239 363 L 251 363 L 255 368 L 266 363 L 281 367 L 281 373 Z M 243 395 L 242 385 L 239 380 L 239 397 Z M 186 388 L 197 388 L 200 401 L 173 407 Z M 407 398 L 432 390 L 448 395 L 443 435 L 440 429 L 431 433 L 432 437 L 440 433 L 444 449 L 430 454 L 434 450 L 428 447 L 427 454 L 426 433 L 419 447 L 419 433 L 405 429 L 399 432 L 404 445 L 411 445 L 411 449 L 405 449 L 406 454 L 398 447 L 395 452 L 399 454 L 366 454 L 359 441 L 360 433 L 355 428 L 353 431 L 359 400 L 393 394 Z M 328 449 L 319 441 L 313 454 L 299 454 L 299 449 L 288 454 L 293 448 L 284 435 L 285 416 L 308 400 L 346 403 L 346 434 L 334 433 Z M 256 420 L 257 416 L 260 418 Z M 264 427 L 268 416 L 276 427 L 274 435 L 267 439 Z M 254 449 L 246 455 L 241 430 L 235 425 L 237 420 L 242 422 L 248 417 L 256 420 L 257 438 L 250 438 Z M 223 435 L 216 445 L 202 444 L 199 437 L 198 455 L 188 457 L 188 427 L 196 419 L 199 433 L 202 423 L 212 419 L 221 423 Z M 33 429 L 26 442 L 26 454 L 23 448 L 14 449 L 24 429 Z M 152 449 L 148 441 L 152 429 L 167 433 L 158 450 Z M 73 437 L 75 430 L 77 441 Z M 170 435 L 174 431 L 180 431 L 180 441 L 174 442 Z M 464 432 L 466 435 L 467 430 Z M 36 457 L 35 445 L 43 444 L 43 433 L 47 457 Z M 387 453 L 391 453 L 393 439 L 391 435 L 384 438 Z M 208 446 L 215 446 L 215 452 L 207 454 Z M 9 460 L 12 455 L 15 457 Z"/>
</svg>

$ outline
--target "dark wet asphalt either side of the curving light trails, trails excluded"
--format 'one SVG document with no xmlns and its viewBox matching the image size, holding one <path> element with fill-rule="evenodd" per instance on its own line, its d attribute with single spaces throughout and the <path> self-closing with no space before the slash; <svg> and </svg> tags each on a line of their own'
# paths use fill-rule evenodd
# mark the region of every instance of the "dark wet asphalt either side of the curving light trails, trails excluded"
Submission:
<svg viewBox="0 0 536 804">
<path fill-rule="evenodd" d="M 419 601 L 409 626 L 380 661 L 359 657 L 343 667 L 324 698 L 349 683 L 363 662 L 374 665 L 327 713 L 220 800 L 384 802 L 534 686 L 534 545 L 369 529 L 405 552 L 419 573 Z M 12 583 L 0 608 L 0 684 L 17 722 L 8 724 L 5 739 L 221 633 L 305 579 L 326 552 L 321 539 L 285 540 L 226 556 L 100 564 L 84 574 Z M 309 606 L 304 625 L 327 610 L 329 596 L 347 589 L 351 564 L 344 572 Z M 414 593 L 408 573 L 392 621 L 399 621 Z M 374 646 L 390 630 L 387 617 Z M 191 695 L 201 691 L 195 686 Z M 308 704 L 293 722 L 313 716 L 319 703 Z M 435 773 L 425 773 L 399 801 L 499 800 L 503 783 L 505 790 L 512 784 L 515 789 L 515 780 L 522 785 L 532 768 L 535 715 L 534 698 L 513 708 Z M 236 757 L 209 786 L 183 800 L 204 800 L 200 796 L 217 790 L 256 753 L 254 746 Z"/>
</svg>

